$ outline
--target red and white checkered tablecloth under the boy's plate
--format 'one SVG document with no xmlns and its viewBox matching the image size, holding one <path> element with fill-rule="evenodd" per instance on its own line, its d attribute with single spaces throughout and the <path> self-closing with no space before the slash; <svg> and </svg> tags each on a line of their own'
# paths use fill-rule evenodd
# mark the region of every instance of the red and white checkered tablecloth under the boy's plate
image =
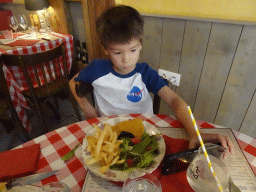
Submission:
<svg viewBox="0 0 256 192">
<path fill-rule="evenodd" d="M 49 132 L 43 136 L 35 138 L 27 143 L 22 144 L 18 148 L 30 146 L 36 143 L 41 145 L 41 154 L 38 164 L 38 173 L 59 170 L 56 175 L 42 180 L 36 185 L 47 184 L 49 182 L 61 181 L 67 184 L 72 192 L 80 192 L 83 188 L 87 170 L 84 167 L 83 158 L 79 149 L 76 155 L 64 162 L 61 157 L 73 149 L 85 137 L 85 129 L 93 123 L 98 124 L 110 118 L 118 116 L 101 117 L 81 121 L 59 128 Z M 156 127 L 177 127 L 182 128 L 182 124 L 168 115 L 125 115 L 125 117 L 141 118 Z M 198 121 L 198 125 L 202 128 L 216 128 L 213 124 Z M 252 170 L 256 174 L 256 139 L 234 131 L 237 141 L 243 150 Z"/>
</svg>

